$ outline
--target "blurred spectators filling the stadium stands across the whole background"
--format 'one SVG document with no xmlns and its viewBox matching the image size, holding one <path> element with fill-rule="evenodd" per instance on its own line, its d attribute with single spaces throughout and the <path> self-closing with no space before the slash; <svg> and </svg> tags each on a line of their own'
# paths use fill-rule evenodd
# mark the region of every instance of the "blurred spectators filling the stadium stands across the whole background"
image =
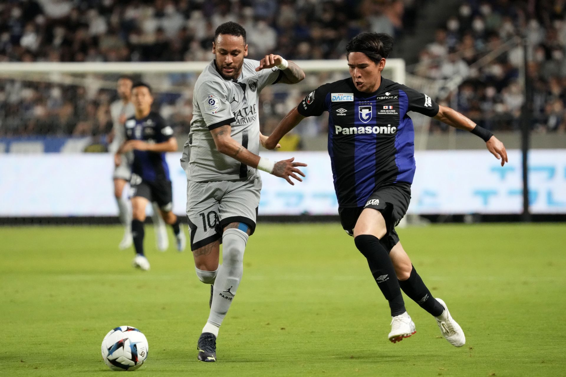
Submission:
<svg viewBox="0 0 566 377">
<path fill-rule="evenodd" d="M 229 20 L 246 28 L 251 58 L 275 51 L 295 60 L 337 59 L 344 57 L 346 42 L 359 32 L 397 37 L 412 32 L 417 3 L 422 4 L 414 0 L 12 0 L 0 4 L 0 61 L 209 60 L 214 30 Z M 512 38 L 525 32 L 533 46 L 528 72 L 534 83 L 535 129 L 564 131 L 565 5 L 562 0 L 532 3 L 464 2 L 458 15 L 436 31 L 434 42 L 421 51 L 411 70 L 431 81 L 461 77 L 458 90 L 439 101 L 488 129 L 516 129 L 524 101 L 523 58 L 519 41 Z M 499 49 L 501 53 L 492 56 Z M 85 77 L 76 85 L 10 78 L 0 76 L 0 136 L 104 137 L 112 128 L 109 104 L 115 99 L 114 76 L 98 77 L 98 86 Z M 188 131 L 195 79 L 193 74 L 158 76 L 156 107 L 177 133 Z M 312 88 L 322 80 L 328 76 L 315 76 L 307 83 Z M 183 86 L 187 89 L 178 89 Z M 305 94 L 278 90 L 275 86 L 262 93 L 264 132 Z M 444 128 L 434 124 L 432 130 Z M 300 132 L 316 135 L 325 132 L 325 125 L 310 122 Z"/>
</svg>

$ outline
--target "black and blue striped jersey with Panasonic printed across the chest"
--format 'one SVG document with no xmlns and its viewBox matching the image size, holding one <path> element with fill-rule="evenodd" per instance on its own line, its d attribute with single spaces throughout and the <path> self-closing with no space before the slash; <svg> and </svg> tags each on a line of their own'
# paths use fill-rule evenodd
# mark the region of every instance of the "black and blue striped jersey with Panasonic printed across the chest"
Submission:
<svg viewBox="0 0 566 377">
<path fill-rule="evenodd" d="M 378 188 L 413 183 L 413 121 L 417 111 L 438 114 L 426 94 L 381 78 L 373 93 L 357 90 L 351 79 L 319 86 L 297 107 L 303 116 L 328 111 L 328 153 L 340 207 L 361 207 Z"/>
</svg>

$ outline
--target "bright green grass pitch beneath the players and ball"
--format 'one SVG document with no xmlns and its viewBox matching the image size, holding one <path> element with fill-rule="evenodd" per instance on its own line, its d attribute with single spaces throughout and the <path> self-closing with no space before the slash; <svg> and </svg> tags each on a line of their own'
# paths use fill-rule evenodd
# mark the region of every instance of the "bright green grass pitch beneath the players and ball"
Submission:
<svg viewBox="0 0 566 377">
<path fill-rule="evenodd" d="M 148 227 L 149 228 L 149 227 Z M 190 252 L 155 251 L 152 269 L 117 250 L 119 227 L 0 227 L 0 375 L 108 376 L 113 327 L 140 328 L 151 376 L 566 375 L 566 225 L 406 228 L 401 240 L 466 332 L 455 348 L 414 302 L 417 333 L 387 340 L 387 302 L 338 224 L 260 224 L 218 362 L 196 361 L 208 285 Z"/>
</svg>

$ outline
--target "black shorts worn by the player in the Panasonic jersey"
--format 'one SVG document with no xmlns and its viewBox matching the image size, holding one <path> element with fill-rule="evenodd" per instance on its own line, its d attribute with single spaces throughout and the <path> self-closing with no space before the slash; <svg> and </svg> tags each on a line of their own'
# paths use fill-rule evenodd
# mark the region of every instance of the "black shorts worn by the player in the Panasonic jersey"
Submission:
<svg viewBox="0 0 566 377">
<path fill-rule="evenodd" d="M 363 207 L 338 207 L 340 215 L 340 223 L 342 228 L 350 236 L 354 235 L 355 223 L 358 221 L 359 215 L 366 208 L 378 210 L 385 219 L 387 233 L 381 237 L 381 245 L 391 252 L 393 246 L 399 242 L 399 236 L 395 231 L 395 227 L 407 213 L 409 202 L 411 200 L 411 185 L 408 183 L 394 183 L 379 187 L 370 195 Z"/>
</svg>

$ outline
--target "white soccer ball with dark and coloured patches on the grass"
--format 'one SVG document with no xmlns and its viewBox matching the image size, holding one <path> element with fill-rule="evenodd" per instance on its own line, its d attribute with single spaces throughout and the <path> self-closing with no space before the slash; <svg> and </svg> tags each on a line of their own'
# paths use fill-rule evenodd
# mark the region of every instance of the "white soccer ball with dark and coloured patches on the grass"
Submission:
<svg viewBox="0 0 566 377">
<path fill-rule="evenodd" d="M 102 359 L 112 370 L 136 370 L 147 359 L 148 344 L 137 328 L 113 328 L 102 339 Z"/>
</svg>

